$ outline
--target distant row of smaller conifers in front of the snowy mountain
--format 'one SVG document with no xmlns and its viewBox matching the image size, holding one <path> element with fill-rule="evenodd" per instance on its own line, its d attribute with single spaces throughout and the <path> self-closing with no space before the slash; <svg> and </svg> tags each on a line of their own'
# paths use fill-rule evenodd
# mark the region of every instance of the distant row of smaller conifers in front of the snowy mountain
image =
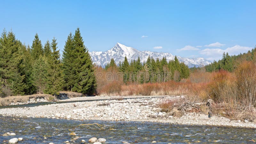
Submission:
<svg viewBox="0 0 256 144">
<path fill-rule="evenodd" d="M 109 64 L 107 65 L 109 67 Z M 119 69 L 123 73 L 124 83 L 156 83 L 166 82 L 168 80 L 180 81 L 182 78 L 188 78 L 189 68 L 184 63 L 180 63 L 175 56 L 174 60 L 167 62 L 166 58 L 161 60 L 148 57 L 144 63 L 140 62 L 140 57 L 137 60 L 132 60 L 129 64 L 127 58 L 119 64 Z M 176 77 L 175 77 L 176 76 Z"/>
</svg>

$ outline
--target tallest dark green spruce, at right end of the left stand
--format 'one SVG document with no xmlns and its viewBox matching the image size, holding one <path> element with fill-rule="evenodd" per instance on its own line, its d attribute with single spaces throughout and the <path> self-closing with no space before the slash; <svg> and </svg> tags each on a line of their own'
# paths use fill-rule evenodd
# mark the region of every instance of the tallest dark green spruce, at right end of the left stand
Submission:
<svg viewBox="0 0 256 144">
<path fill-rule="evenodd" d="M 67 45 L 67 42 L 66 42 Z M 73 47 L 73 48 L 72 48 Z M 83 94 L 88 94 L 91 95 L 95 92 L 96 89 L 96 78 L 94 76 L 94 68 L 91 60 L 91 56 L 87 50 L 87 48 L 84 46 L 84 41 L 83 38 L 80 34 L 79 28 L 76 29 L 75 35 L 73 37 L 73 44 L 70 47 L 68 51 L 64 51 L 65 57 L 63 56 L 63 62 L 65 61 L 64 59 L 67 58 L 67 56 L 71 56 L 71 60 L 73 61 L 68 61 L 71 62 L 69 63 L 70 66 L 72 66 L 72 72 L 73 75 L 72 77 L 74 78 L 74 83 L 70 84 L 70 81 L 68 78 L 67 83 L 70 84 L 71 90 L 75 92 L 81 92 Z M 64 53 L 63 53 L 64 54 Z M 69 59 L 69 60 L 70 60 Z M 65 65 L 65 63 L 64 63 Z M 67 65 L 64 66 L 64 68 L 67 68 Z M 65 70 L 64 71 L 69 71 Z M 72 74 L 68 74 L 64 72 L 64 75 L 66 74 L 66 78 Z M 73 80 L 72 80 L 73 81 Z"/>
</svg>

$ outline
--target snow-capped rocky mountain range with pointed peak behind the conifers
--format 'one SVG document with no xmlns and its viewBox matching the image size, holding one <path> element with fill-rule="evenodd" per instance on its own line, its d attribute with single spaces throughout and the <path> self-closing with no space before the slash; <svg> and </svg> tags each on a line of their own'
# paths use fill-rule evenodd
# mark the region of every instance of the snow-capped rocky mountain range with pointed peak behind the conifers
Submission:
<svg viewBox="0 0 256 144">
<path fill-rule="evenodd" d="M 106 52 L 89 52 L 92 56 L 92 61 L 96 65 L 105 67 L 110 59 L 114 58 L 115 62 L 118 64 L 119 61 L 124 61 L 124 57 L 127 57 L 127 60 L 131 62 L 131 60 L 137 60 L 140 57 L 140 61 L 147 61 L 148 56 L 153 57 L 154 59 L 159 58 L 162 59 L 166 57 L 167 61 L 173 60 L 174 56 L 168 52 L 149 52 L 149 51 L 138 51 L 132 47 L 125 46 L 120 43 L 116 43 L 116 45 Z M 202 67 L 211 62 L 204 58 L 183 58 L 177 57 L 181 62 L 184 62 L 189 68 L 191 67 Z"/>
</svg>

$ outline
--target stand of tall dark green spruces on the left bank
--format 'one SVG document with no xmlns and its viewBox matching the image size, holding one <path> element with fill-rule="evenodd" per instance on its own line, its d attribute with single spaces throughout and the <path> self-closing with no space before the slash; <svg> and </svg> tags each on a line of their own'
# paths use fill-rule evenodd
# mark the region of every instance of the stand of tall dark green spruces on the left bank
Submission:
<svg viewBox="0 0 256 144">
<path fill-rule="evenodd" d="M 56 38 L 43 45 L 36 34 L 29 46 L 4 30 L 0 38 L 0 96 L 57 95 L 61 90 L 93 94 L 94 69 L 79 28 L 68 35 L 62 59 L 57 49 Z"/>
</svg>

